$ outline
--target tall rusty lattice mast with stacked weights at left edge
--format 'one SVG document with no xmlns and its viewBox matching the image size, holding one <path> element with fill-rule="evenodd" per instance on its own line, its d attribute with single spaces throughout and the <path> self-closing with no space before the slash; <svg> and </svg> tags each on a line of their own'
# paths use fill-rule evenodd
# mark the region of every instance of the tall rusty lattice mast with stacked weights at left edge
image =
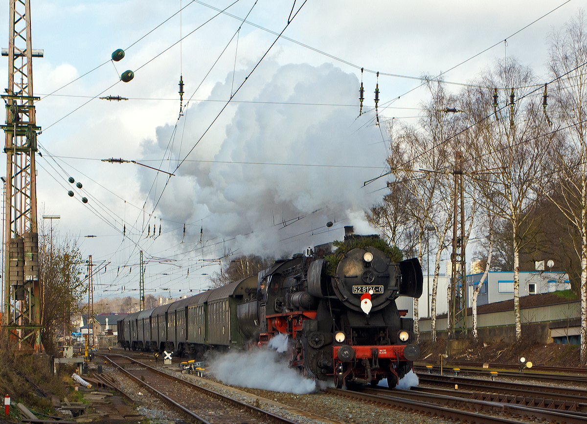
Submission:
<svg viewBox="0 0 587 424">
<path fill-rule="evenodd" d="M 9 0 L 8 88 L 6 104 L 6 208 L 4 313 L 2 324 L 18 338 L 18 348 L 40 351 L 42 287 L 39 280 L 35 106 L 32 58 L 42 50 L 31 47 L 31 2 Z"/>
</svg>

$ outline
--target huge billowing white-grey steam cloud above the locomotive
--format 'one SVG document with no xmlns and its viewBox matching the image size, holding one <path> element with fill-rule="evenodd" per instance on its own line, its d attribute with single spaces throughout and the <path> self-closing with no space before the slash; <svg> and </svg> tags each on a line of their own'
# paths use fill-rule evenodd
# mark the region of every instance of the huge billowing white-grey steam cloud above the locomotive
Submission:
<svg viewBox="0 0 587 424">
<path fill-rule="evenodd" d="M 235 83 L 248 72 L 237 72 Z M 228 99 L 231 85 L 232 73 L 208 99 Z M 156 214 L 197 223 L 188 234 L 199 233 L 202 220 L 206 240 L 230 240 L 239 254 L 298 253 L 340 240 L 348 225 L 355 233 L 376 233 L 365 212 L 382 192 L 363 188 L 363 181 L 386 166 L 386 137 L 371 122 L 372 113 L 357 118 L 358 88 L 354 74 L 329 63 L 262 63 L 171 178 Z M 144 159 L 183 159 L 220 107 L 190 106 L 185 128 L 175 136 L 173 127 L 159 127 L 157 140 L 143 143 Z M 170 155 L 164 153 L 168 145 Z M 152 174 L 141 177 L 147 192 Z M 151 197 L 159 196 L 163 183 L 156 182 Z"/>
</svg>

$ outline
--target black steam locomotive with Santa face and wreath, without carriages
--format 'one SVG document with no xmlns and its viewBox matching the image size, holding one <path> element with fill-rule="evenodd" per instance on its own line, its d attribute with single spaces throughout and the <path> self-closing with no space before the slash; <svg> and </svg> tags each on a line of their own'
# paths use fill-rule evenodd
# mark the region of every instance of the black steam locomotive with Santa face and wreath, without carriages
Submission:
<svg viewBox="0 0 587 424">
<path fill-rule="evenodd" d="M 289 366 L 310 378 L 332 376 L 339 388 L 387 379 L 392 388 L 420 354 L 413 319 L 395 302 L 420 297 L 420 262 L 402 260 L 397 247 L 378 235 L 352 234 L 352 227 L 333 245 L 259 272 L 257 296 L 237 304 L 240 331 L 258 345 L 288 335 Z"/>
</svg>

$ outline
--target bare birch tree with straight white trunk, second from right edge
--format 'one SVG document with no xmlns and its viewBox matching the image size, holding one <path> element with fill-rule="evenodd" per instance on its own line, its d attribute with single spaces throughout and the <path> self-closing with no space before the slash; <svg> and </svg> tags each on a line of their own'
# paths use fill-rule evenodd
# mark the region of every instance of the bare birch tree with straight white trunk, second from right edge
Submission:
<svg viewBox="0 0 587 424">
<path fill-rule="evenodd" d="M 541 196 L 536 183 L 544 175 L 544 117 L 537 97 L 531 96 L 536 90 L 531 69 L 514 59 L 498 62 L 479 86 L 498 88 L 494 92 L 468 89 L 467 113 L 478 137 L 476 166 L 491 170 L 489 174 L 479 170 L 476 178 L 484 206 L 488 214 L 508 221 L 512 228 L 515 338 L 519 341 L 519 253 L 530 239 L 527 232 L 534 228 L 528 220 L 537 216 L 528 210 Z"/>
</svg>

